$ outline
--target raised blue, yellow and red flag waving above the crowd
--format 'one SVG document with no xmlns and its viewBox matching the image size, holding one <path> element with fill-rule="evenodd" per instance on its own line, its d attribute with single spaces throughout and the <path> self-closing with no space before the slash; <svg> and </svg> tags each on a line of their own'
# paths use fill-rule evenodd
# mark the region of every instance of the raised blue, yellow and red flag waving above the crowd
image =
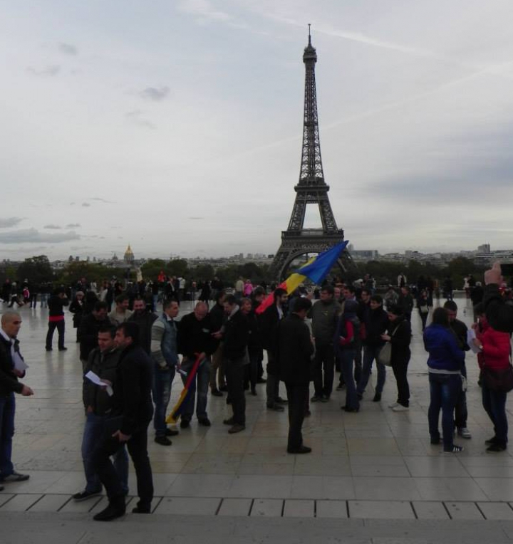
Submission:
<svg viewBox="0 0 513 544">
<path fill-rule="evenodd" d="M 328 249 L 328 251 L 324 251 L 323 253 L 319 253 L 318 256 L 312 257 L 309 261 L 306 261 L 303 266 L 298 268 L 296 272 L 291 273 L 285 281 L 282 281 L 278 288 L 285 289 L 287 295 L 290 295 L 296 291 L 306 278 L 309 278 L 316 284 L 321 283 L 336 263 L 336 260 L 342 251 L 346 249 L 348 243 L 348 240 L 343 241 L 340 244 L 336 244 L 336 246 L 333 246 L 331 249 Z M 269 295 L 262 300 L 257 310 L 255 310 L 256 313 L 263 313 L 273 303 L 273 300 L 274 293 L 269 293 Z"/>
</svg>

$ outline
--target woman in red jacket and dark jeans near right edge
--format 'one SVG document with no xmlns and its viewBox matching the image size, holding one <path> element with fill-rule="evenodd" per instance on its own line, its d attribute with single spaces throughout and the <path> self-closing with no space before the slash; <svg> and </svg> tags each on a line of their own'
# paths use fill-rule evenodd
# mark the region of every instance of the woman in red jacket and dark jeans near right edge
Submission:
<svg viewBox="0 0 513 544">
<path fill-rule="evenodd" d="M 504 370 L 509 365 L 510 340 L 509 333 L 502 333 L 499 330 L 488 326 L 480 333 L 477 327 L 477 338 L 474 343 L 480 348 L 478 362 L 480 368 L 488 367 L 490 370 Z M 507 447 L 507 416 L 506 397 L 507 393 L 493 391 L 487 387 L 486 380 L 482 380 L 482 404 L 489 419 L 494 424 L 495 435 L 487 440 L 487 451 L 504 451 Z"/>
</svg>

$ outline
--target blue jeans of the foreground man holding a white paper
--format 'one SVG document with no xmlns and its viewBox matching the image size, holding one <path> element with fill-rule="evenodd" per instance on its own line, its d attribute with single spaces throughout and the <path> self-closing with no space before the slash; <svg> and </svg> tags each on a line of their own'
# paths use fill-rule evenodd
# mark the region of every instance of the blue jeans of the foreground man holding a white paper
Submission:
<svg viewBox="0 0 513 544">
<path fill-rule="evenodd" d="M 103 441 L 105 416 L 97 416 L 93 413 L 86 414 L 86 425 L 82 437 L 82 461 L 86 473 L 86 491 L 95 493 L 101 491 L 101 482 L 93 466 L 93 451 Z M 123 493 L 128 494 L 128 454 L 125 447 L 115 452 L 114 468 L 118 473 L 123 487 Z"/>
</svg>

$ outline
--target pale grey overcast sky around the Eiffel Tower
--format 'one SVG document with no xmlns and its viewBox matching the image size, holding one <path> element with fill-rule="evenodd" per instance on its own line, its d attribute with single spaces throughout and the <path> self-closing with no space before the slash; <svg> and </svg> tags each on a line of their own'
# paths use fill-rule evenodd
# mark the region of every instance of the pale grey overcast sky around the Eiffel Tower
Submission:
<svg viewBox="0 0 513 544">
<path fill-rule="evenodd" d="M 355 249 L 513 247 L 511 0 L 0 7 L 0 259 L 274 253 L 308 23 L 324 175 Z"/>
</svg>

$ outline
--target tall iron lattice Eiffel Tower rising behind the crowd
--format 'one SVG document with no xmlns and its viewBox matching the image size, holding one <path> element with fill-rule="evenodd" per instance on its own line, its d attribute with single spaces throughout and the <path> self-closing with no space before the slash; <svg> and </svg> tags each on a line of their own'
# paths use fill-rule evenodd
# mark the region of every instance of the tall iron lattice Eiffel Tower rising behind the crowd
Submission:
<svg viewBox="0 0 513 544">
<path fill-rule="evenodd" d="M 343 229 L 338 229 L 336 224 L 328 199 L 329 185 L 324 181 L 315 83 L 317 53 L 311 44 L 310 25 L 309 43 L 304 50 L 303 62 L 306 75 L 301 172 L 299 183 L 294 187 L 296 200 L 289 227 L 286 231 L 281 231 L 281 245 L 269 268 L 269 277 L 279 280 L 284 278 L 287 268 L 295 258 L 305 253 L 321 253 L 343 241 Z M 318 204 L 321 229 L 304 228 L 306 204 Z M 347 268 L 343 261 L 348 260 L 350 261 L 351 257 L 347 251 L 344 251 L 342 258 L 338 259 L 338 264 L 343 271 Z"/>
</svg>

